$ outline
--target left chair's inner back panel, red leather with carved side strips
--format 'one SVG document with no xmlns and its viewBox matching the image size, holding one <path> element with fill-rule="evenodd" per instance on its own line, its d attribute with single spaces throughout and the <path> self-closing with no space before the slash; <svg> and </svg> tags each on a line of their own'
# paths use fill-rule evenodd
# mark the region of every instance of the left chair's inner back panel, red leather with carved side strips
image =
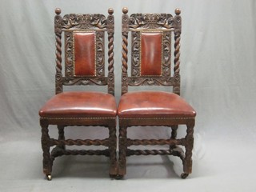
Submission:
<svg viewBox="0 0 256 192">
<path fill-rule="evenodd" d="M 102 38 L 100 38 L 102 37 Z M 104 32 L 65 32 L 66 79 L 105 76 Z"/>
</svg>

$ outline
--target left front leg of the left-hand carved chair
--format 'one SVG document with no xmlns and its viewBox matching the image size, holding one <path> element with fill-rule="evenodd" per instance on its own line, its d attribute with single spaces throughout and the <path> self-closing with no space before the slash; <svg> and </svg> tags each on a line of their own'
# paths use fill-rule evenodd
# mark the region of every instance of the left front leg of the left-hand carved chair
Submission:
<svg viewBox="0 0 256 192">
<path fill-rule="evenodd" d="M 51 180 L 51 170 L 52 170 L 52 164 L 53 161 L 50 158 L 50 136 L 48 134 L 48 125 L 46 123 L 43 123 L 41 121 L 42 126 L 42 167 L 43 167 L 43 173 L 46 174 L 46 178 L 48 180 Z"/>
</svg>

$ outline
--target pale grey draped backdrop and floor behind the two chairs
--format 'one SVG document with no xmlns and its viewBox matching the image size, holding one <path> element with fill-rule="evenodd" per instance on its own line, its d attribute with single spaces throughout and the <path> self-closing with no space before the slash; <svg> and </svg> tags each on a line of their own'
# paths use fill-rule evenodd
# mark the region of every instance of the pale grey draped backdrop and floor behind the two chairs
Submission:
<svg viewBox="0 0 256 192">
<path fill-rule="evenodd" d="M 54 9 L 62 15 L 114 9 L 118 102 L 124 6 L 129 14 L 182 10 L 182 97 L 198 112 L 193 174 L 178 178 L 181 165 L 172 157 L 130 157 L 126 178 L 115 181 L 106 158 L 64 157 L 46 182 L 38 109 L 54 94 Z M 255 10 L 254 0 L 1 0 L 0 191 L 255 190 Z"/>
</svg>

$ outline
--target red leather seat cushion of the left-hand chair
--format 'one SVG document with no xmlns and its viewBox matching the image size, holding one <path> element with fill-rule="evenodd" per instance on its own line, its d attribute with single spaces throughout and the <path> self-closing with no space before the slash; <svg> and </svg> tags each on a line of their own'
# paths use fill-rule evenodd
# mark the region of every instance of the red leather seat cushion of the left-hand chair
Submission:
<svg viewBox="0 0 256 192">
<path fill-rule="evenodd" d="M 115 118 L 116 109 L 112 94 L 63 92 L 50 98 L 39 110 L 39 115 L 42 118 Z"/>
</svg>

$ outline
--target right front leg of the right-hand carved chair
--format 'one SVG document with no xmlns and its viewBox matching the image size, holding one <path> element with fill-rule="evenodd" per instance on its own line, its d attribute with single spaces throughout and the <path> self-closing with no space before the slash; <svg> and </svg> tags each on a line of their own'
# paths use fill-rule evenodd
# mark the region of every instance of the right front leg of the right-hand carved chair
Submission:
<svg viewBox="0 0 256 192">
<path fill-rule="evenodd" d="M 186 124 L 186 144 L 185 158 L 183 162 L 183 171 L 181 177 L 186 178 L 192 172 L 192 150 L 194 146 L 194 120 Z"/>
</svg>

